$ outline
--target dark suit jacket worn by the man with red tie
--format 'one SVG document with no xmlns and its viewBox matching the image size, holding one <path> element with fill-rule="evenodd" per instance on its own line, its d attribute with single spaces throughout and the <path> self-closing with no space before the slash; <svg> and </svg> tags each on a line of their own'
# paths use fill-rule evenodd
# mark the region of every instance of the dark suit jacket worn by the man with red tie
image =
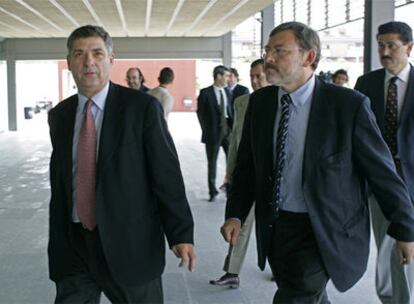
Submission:
<svg viewBox="0 0 414 304">
<path fill-rule="evenodd" d="M 70 274 L 72 141 L 77 95 L 49 112 L 53 152 L 49 218 L 49 272 Z M 110 84 L 101 129 L 96 216 L 103 251 L 119 284 L 144 284 L 161 275 L 165 240 L 193 242 L 193 220 L 172 138 L 160 103 Z"/>
</svg>

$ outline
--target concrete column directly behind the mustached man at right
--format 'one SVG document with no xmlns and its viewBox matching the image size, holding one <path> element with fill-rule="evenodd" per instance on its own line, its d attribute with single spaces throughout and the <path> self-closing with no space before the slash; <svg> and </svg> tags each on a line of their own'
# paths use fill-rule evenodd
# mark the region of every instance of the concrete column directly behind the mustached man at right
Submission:
<svg viewBox="0 0 414 304">
<path fill-rule="evenodd" d="M 379 25 L 392 20 L 394 1 L 365 0 L 364 73 L 381 67 L 377 51 L 377 30 Z"/>
</svg>

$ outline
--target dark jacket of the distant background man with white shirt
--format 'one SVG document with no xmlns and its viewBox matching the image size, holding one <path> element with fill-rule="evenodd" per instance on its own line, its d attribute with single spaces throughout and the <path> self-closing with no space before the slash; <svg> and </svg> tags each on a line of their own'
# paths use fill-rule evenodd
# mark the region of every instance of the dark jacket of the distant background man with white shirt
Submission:
<svg viewBox="0 0 414 304">
<path fill-rule="evenodd" d="M 231 106 L 231 95 L 228 90 L 224 90 L 227 96 L 227 112 L 229 118 L 227 122 L 231 128 L 233 124 L 233 107 Z M 197 117 L 200 122 L 202 136 L 201 142 L 206 144 L 217 144 L 220 141 L 220 106 L 218 104 L 214 87 L 209 86 L 201 89 L 197 98 Z"/>
</svg>

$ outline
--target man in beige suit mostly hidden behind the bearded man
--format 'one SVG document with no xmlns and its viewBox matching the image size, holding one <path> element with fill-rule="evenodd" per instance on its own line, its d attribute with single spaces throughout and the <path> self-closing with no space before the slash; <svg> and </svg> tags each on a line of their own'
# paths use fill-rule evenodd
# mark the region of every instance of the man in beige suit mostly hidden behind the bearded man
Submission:
<svg viewBox="0 0 414 304">
<path fill-rule="evenodd" d="M 269 85 L 266 80 L 264 71 L 263 59 L 253 61 L 250 65 L 250 82 L 253 91 L 257 91 Z M 247 106 L 249 105 L 250 95 L 246 94 L 239 96 L 234 100 L 234 122 L 231 131 L 231 139 L 229 152 L 227 157 L 226 169 L 226 184 L 231 187 L 231 176 L 236 166 L 237 148 L 239 146 L 241 135 L 243 131 L 244 115 L 246 114 Z M 239 240 L 236 245 L 229 246 L 226 259 L 224 261 L 223 270 L 226 272 L 223 276 L 216 280 L 211 280 L 210 284 L 217 286 L 231 286 L 233 288 L 239 287 L 240 284 L 240 270 L 246 256 L 247 247 L 249 245 L 250 234 L 254 222 L 254 206 L 250 209 L 249 215 L 241 227 Z"/>
</svg>

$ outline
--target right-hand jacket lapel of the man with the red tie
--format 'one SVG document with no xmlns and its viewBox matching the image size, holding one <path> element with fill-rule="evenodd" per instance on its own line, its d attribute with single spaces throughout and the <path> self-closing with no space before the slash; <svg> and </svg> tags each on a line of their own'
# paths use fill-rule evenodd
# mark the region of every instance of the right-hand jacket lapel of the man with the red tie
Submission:
<svg viewBox="0 0 414 304">
<path fill-rule="evenodd" d="M 117 142 L 122 130 L 122 105 L 122 102 L 119 100 L 118 88 L 113 83 L 110 83 L 99 142 L 97 182 L 99 182 L 100 173 L 109 162 L 113 151 L 118 147 Z"/>
</svg>

